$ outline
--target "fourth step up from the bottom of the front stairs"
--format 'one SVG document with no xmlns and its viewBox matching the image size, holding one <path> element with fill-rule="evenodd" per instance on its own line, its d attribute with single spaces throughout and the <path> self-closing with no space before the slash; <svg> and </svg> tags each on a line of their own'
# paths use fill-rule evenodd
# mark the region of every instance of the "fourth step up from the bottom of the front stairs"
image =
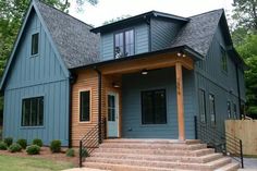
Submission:
<svg viewBox="0 0 257 171">
<path fill-rule="evenodd" d="M 95 152 L 115 152 L 115 154 L 140 154 L 140 155 L 170 155 L 170 156 L 204 156 L 213 154 L 212 148 L 203 148 L 197 150 L 173 150 L 173 149 L 130 149 L 130 148 L 97 148 Z"/>
</svg>

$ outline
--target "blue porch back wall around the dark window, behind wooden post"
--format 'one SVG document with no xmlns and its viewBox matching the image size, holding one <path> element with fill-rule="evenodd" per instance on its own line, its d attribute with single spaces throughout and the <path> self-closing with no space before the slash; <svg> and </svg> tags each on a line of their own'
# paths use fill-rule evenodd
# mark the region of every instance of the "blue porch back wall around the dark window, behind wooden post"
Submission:
<svg viewBox="0 0 257 171">
<path fill-rule="evenodd" d="M 186 138 L 194 138 L 193 72 L 185 71 L 184 109 Z M 133 84 L 131 84 L 133 83 Z M 140 91 L 166 89 L 167 124 L 142 125 Z M 130 138 L 178 138 L 176 88 L 174 68 L 150 71 L 147 75 L 126 74 L 122 77 L 122 136 Z"/>
</svg>

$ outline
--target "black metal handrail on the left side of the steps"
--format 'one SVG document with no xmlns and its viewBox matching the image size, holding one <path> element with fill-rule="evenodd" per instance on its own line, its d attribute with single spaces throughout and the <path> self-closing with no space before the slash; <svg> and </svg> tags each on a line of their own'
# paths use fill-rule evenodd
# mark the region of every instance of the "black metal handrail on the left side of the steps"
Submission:
<svg viewBox="0 0 257 171">
<path fill-rule="evenodd" d="M 101 129 L 99 129 L 100 126 Z M 94 125 L 79 141 L 79 167 L 82 167 L 85 158 L 89 157 L 93 150 L 99 147 L 106 135 L 106 118 L 101 118 L 100 123 Z"/>
</svg>

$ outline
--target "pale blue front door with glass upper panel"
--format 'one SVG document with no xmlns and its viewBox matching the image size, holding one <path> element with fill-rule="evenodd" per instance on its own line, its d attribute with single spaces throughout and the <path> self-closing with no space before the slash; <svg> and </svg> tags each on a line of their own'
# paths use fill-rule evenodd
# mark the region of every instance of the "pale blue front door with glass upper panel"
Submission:
<svg viewBox="0 0 257 171">
<path fill-rule="evenodd" d="M 119 136 L 119 99 L 118 94 L 108 95 L 108 137 Z"/>
</svg>

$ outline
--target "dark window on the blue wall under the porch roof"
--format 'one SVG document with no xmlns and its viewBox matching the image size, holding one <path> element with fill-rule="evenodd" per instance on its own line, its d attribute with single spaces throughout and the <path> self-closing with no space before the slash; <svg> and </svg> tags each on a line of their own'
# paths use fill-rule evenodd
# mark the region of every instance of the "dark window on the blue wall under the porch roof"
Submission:
<svg viewBox="0 0 257 171">
<path fill-rule="evenodd" d="M 166 90 L 142 91 L 142 124 L 166 124 Z"/>
</svg>

